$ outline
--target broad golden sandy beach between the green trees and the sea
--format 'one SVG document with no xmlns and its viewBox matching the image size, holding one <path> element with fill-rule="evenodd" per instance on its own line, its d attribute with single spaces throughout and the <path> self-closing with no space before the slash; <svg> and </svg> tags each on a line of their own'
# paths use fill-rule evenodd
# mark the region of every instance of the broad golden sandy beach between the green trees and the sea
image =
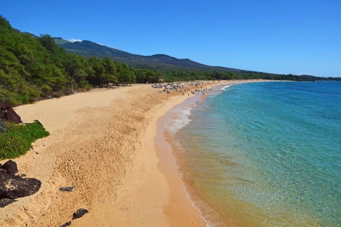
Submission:
<svg viewBox="0 0 341 227">
<path fill-rule="evenodd" d="M 235 82 L 202 86 L 222 83 Z M 195 86 L 167 94 L 139 84 L 16 107 L 24 123 L 38 119 L 51 135 L 13 159 L 18 174 L 42 184 L 36 194 L 0 208 L 0 226 L 57 227 L 79 208 L 89 213 L 71 226 L 206 226 L 162 132 L 162 117 L 189 89 Z M 67 186 L 75 189 L 59 190 Z"/>
</svg>

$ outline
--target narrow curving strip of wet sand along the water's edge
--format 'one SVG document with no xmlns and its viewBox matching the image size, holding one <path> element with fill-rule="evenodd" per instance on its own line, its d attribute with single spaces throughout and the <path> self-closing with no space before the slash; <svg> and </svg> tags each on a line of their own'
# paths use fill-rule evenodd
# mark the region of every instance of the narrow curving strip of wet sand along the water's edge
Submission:
<svg viewBox="0 0 341 227">
<path fill-rule="evenodd" d="M 199 204 L 196 204 L 197 201 L 194 202 L 190 199 L 192 195 L 190 194 L 188 189 L 186 189 L 188 185 L 185 185 L 185 183 L 182 180 L 183 173 L 180 173 L 178 170 L 179 166 L 177 165 L 177 161 L 179 160 L 177 160 L 177 158 L 179 157 L 176 157 L 176 155 L 174 154 L 174 151 L 172 150 L 174 148 L 171 147 L 171 143 L 170 141 L 168 141 L 170 139 L 169 135 L 166 136 L 165 134 L 164 124 L 170 120 L 171 111 L 181 106 L 196 105 L 197 101 L 205 99 L 212 94 L 217 95 L 220 92 L 223 92 L 227 87 L 230 87 L 236 84 L 250 83 L 250 82 L 266 82 L 266 81 L 268 80 L 234 80 L 234 81 L 221 81 L 219 83 L 214 83 L 213 86 L 212 84 L 206 84 L 205 86 L 206 89 L 211 88 L 212 86 L 212 90 L 208 91 L 208 94 L 204 94 L 204 95 L 200 94 L 200 95 L 193 95 L 193 96 L 186 97 L 185 100 L 174 105 L 166 114 L 164 114 L 158 119 L 157 124 L 159 127 L 158 128 L 159 133 L 155 137 L 155 144 L 157 143 L 162 144 L 162 146 L 156 146 L 158 157 L 160 160 L 159 169 L 164 173 L 168 181 L 171 182 L 171 185 L 175 184 L 175 186 L 171 188 L 171 191 L 173 191 L 173 199 L 170 200 L 170 204 L 168 205 L 168 207 L 171 210 L 168 214 L 168 218 L 171 220 L 172 218 L 177 217 L 177 220 L 175 221 L 172 220 L 171 222 L 173 223 L 172 226 L 184 226 L 184 227 L 205 226 L 205 227 L 208 227 L 213 223 L 211 223 L 210 218 L 207 219 L 205 216 L 203 216 L 202 211 L 198 207 Z M 213 91 L 213 88 L 214 88 L 214 91 Z M 174 176 L 175 176 L 175 180 L 174 180 Z M 179 184 L 179 182 L 180 182 L 181 187 L 176 185 L 176 184 Z M 175 194 L 180 194 L 180 195 L 175 196 Z M 188 208 L 191 207 L 191 210 L 187 211 L 186 215 L 181 213 L 181 212 L 186 212 L 186 210 L 182 208 L 182 206 L 184 206 L 183 203 L 181 205 L 179 204 L 180 197 L 182 198 L 182 200 L 186 200 L 185 206 L 187 206 Z M 188 201 L 190 202 L 190 205 L 187 203 Z M 180 210 L 178 212 L 174 212 L 174 210 L 179 209 L 179 207 L 180 207 Z M 193 210 L 193 208 L 195 210 Z M 211 212 L 213 212 L 213 210 L 211 210 Z M 167 212 L 165 213 L 167 215 Z M 176 214 L 177 216 L 175 216 Z M 180 220 L 185 220 L 186 217 L 188 219 L 189 214 L 191 215 L 191 217 L 195 217 L 195 219 L 193 220 L 193 218 L 191 218 L 190 220 L 186 220 L 186 222 L 184 221 L 179 222 L 179 217 L 180 217 Z M 197 216 L 198 214 L 200 216 L 199 218 Z M 215 215 L 216 214 L 214 214 L 214 216 Z M 229 223 L 229 225 L 235 226 L 235 223 L 233 224 Z"/>
</svg>

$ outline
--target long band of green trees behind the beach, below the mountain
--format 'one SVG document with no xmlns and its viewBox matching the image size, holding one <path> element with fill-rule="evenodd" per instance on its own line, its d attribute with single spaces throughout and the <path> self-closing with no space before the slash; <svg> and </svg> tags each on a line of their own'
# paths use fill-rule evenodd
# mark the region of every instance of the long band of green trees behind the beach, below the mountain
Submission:
<svg viewBox="0 0 341 227">
<path fill-rule="evenodd" d="M 109 57 L 82 57 L 59 47 L 48 34 L 35 38 L 12 28 L 0 15 L 0 101 L 14 106 L 70 95 L 92 87 L 198 79 L 316 80 L 323 77 L 252 71 L 186 71 L 132 67 Z"/>
</svg>

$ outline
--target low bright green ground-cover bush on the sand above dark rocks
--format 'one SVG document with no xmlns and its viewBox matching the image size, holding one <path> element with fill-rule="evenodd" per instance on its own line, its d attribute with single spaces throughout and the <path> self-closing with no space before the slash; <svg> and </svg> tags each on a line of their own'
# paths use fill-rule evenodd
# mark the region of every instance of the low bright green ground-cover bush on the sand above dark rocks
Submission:
<svg viewBox="0 0 341 227">
<path fill-rule="evenodd" d="M 37 120 L 32 124 L 8 124 L 7 132 L 0 133 L 0 160 L 25 154 L 34 141 L 48 135 L 50 133 Z"/>
</svg>

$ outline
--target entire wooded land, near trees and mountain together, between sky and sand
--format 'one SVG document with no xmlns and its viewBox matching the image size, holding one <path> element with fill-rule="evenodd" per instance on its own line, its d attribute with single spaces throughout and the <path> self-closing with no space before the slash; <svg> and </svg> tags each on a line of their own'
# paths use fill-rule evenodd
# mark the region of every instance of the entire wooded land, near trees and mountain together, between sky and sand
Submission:
<svg viewBox="0 0 341 227">
<path fill-rule="evenodd" d="M 167 55 L 141 56 L 91 41 L 70 42 L 12 28 L 0 16 L 0 101 L 10 105 L 69 95 L 94 86 L 197 79 L 309 81 L 315 76 L 276 75 L 203 65 Z"/>
</svg>

